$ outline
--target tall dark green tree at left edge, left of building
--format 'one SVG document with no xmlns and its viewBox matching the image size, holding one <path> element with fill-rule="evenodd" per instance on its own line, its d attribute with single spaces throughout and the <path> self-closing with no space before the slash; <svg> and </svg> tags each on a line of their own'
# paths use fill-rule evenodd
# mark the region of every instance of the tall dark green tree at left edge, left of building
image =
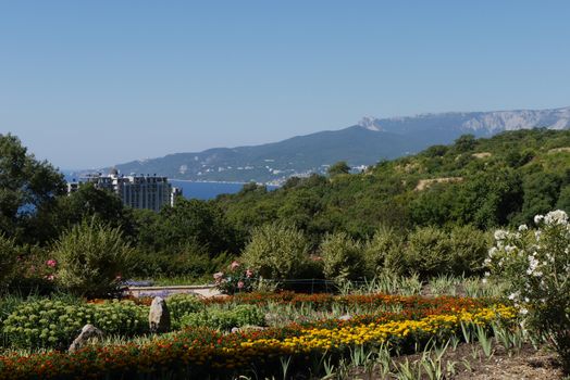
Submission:
<svg viewBox="0 0 570 380">
<path fill-rule="evenodd" d="M 30 223 L 64 193 L 63 176 L 47 162 L 37 161 L 18 138 L 0 135 L 0 232 L 20 242 L 36 242 Z"/>
</svg>

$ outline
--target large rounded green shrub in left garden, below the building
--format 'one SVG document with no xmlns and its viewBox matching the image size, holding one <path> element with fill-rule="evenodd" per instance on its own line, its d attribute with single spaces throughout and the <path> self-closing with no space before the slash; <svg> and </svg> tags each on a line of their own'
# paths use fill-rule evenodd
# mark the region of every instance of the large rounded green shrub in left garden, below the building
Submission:
<svg viewBox="0 0 570 380">
<path fill-rule="evenodd" d="M 120 291 L 123 276 L 133 267 L 133 250 L 120 229 L 82 221 L 57 242 L 57 282 L 70 292 L 87 297 L 108 297 Z"/>
</svg>

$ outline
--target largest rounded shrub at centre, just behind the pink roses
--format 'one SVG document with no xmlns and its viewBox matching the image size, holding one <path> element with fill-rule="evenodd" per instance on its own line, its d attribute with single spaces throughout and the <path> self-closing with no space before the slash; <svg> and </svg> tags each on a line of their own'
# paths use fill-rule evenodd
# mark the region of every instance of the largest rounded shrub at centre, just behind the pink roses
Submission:
<svg viewBox="0 0 570 380">
<path fill-rule="evenodd" d="M 241 262 L 263 278 L 292 279 L 306 266 L 308 252 L 309 244 L 302 231 L 273 223 L 253 229 Z"/>
</svg>

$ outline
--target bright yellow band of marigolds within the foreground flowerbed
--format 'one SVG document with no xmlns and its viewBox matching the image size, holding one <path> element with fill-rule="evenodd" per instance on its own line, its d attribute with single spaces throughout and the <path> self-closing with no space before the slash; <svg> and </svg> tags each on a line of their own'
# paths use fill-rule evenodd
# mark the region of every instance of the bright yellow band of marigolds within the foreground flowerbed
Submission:
<svg viewBox="0 0 570 380">
<path fill-rule="evenodd" d="M 457 314 L 453 315 L 430 315 L 419 320 L 302 329 L 296 337 L 282 340 L 252 339 L 240 342 L 235 347 L 223 347 L 215 354 L 219 359 L 220 356 L 224 357 L 225 360 L 221 362 L 225 363 L 218 362 L 215 367 L 232 368 L 260 355 L 299 355 L 347 345 L 381 344 L 391 339 L 406 339 L 410 334 L 431 337 L 446 330 L 456 330 L 462 322 L 485 326 L 497 319 L 512 319 L 516 315 L 515 308 L 497 305 L 474 312 L 457 311 Z"/>
</svg>

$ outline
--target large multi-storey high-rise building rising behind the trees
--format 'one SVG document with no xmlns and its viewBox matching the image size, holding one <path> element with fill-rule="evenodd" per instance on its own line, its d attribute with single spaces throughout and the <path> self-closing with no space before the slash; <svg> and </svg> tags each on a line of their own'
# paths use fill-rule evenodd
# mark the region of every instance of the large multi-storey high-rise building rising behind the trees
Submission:
<svg viewBox="0 0 570 380">
<path fill-rule="evenodd" d="M 166 177 L 157 175 L 120 175 L 112 169 L 109 175 L 95 174 L 83 178 L 83 181 L 69 182 L 67 192 L 77 191 L 82 183 L 94 183 L 98 189 L 115 192 L 123 204 L 133 208 L 160 211 L 164 205 L 174 205 L 174 199 L 182 195 L 182 190 L 173 187 Z"/>
</svg>

